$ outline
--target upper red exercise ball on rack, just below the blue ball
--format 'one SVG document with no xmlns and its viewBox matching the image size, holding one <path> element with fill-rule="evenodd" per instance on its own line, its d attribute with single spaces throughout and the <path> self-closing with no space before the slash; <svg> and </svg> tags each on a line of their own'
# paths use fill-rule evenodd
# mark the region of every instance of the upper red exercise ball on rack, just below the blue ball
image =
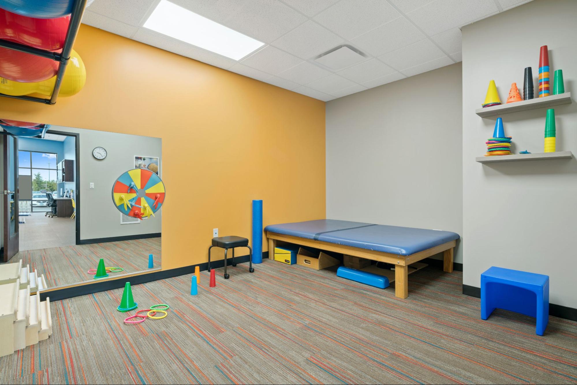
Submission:
<svg viewBox="0 0 577 385">
<path fill-rule="evenodd" d="M 62 48 L 70 15 L 58 18 L 32 18 L 0 8 L 0 39 L 55 51 Z"/>
</svg>

